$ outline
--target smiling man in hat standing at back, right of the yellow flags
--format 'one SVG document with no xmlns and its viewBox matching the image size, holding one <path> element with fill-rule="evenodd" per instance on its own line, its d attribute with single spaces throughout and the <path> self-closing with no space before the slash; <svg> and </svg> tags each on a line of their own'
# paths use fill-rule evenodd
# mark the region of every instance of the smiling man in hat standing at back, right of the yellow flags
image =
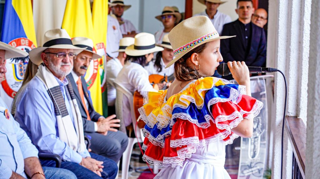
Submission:
<svg viewBox="0 0 320 179">
<path fill-rule="evenodd" d="M 129 20 L 121 18 L 124 11 L 129 9 L 131 5 L 125 5 L 123 0 L 113 0 L 111 3 L 116 4 L 112 7 L 112 14 L 114 14 L 119 21 L 123 37 L 134 37 L 139 33 L 137 29 Z"/>
</svg>

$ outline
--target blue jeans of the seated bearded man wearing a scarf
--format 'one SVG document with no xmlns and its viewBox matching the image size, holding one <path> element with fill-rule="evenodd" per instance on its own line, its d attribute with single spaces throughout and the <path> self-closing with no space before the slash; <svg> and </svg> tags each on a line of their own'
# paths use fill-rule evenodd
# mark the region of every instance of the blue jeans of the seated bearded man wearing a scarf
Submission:
<svg viewBox="0 0 320 179">
<path fill-rule="evenodd" d="M 118 173 L 118 167 L 115 161 L 108 159 L 106 157 L 90 153 L 91 158 L 96 159 L 98 161 L 103 161 L 103 172 L 101 172 L 103 179 L 114 179 Z M 55 161 L 53 160 L 40 160 L 42 166 L 46 167 L 54 167 Z M 70 170 L 73 172 L 78 179 L 101 179 L 101 177 L 91 170 L 79 165 L 78 163 L 71 162 L 71 161 L 62 161 L 61 168 Z"/>
</svg>

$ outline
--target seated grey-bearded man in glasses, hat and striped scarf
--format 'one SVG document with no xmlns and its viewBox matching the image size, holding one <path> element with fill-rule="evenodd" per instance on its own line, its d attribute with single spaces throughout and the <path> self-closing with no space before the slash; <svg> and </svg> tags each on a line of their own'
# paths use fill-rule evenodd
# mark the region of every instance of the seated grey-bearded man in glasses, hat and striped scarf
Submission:
<svg viewBox="0 0 320 179">
<path fill-rule="evenodd" d="M 73 46 L 64 29 L 44 33 L 42 47 L 29 53 L 38 72 L 17 99 L 15 119 L 41 152 L 60 155 L 61 168 L 77 178 L 115 178 L 116 162 L 86 148 L 83 119 L 67 76 L 73 59 L 85 48 Z M 41 163 L 55 165 L 49 160 Z"/>
</svg>

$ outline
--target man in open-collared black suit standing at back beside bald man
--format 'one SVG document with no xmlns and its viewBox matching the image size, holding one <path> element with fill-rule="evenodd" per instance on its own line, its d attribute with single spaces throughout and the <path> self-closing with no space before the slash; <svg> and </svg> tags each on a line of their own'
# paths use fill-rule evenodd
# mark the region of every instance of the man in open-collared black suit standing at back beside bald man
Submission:
<svg viewBox="0 0 320 179">
<path fill-rule="evenodd" d="M 236 35 L 235 38 L 221 40 L 223 61 L 244 61 L 247 66 L 262 67 L 266 61 L 266 36 L 261 27 L 251 22 L 254 12 L 251 0 L 238 0 L 236 13 L 239 18 L 223 26 L 221 36 Z M 232 75 L 224 76 L 233 79 Z"/>
</svg>

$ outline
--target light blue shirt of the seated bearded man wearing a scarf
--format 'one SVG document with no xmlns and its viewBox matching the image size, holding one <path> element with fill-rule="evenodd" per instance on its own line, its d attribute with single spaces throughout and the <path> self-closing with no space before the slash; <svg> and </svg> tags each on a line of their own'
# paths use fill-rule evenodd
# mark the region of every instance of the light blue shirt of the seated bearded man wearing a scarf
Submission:
<svg viewBox="0 0 320 179">
<path fill-rule="evenodd" d="M 66 95 L 65 86 L 68 84 L 65 78 L 61 82 L 58 78 L 65 104 L 73 120 L 71 107 Z M 80 163 L 82 158 L 90 157 L 88 150 L 77 153 L 65 142 L 59 139 L 57 118 L 54 113 L 53 102 L 45 89 L 44 83 L 38 77 L 34 77 L 24 91 L 17 98 L 17 110 L 14 118 L 20 123 L 40 152 L 58 154 L 64 161 Z M 73 121 L 72 121 L 73 122 Z"/>
</svg>

